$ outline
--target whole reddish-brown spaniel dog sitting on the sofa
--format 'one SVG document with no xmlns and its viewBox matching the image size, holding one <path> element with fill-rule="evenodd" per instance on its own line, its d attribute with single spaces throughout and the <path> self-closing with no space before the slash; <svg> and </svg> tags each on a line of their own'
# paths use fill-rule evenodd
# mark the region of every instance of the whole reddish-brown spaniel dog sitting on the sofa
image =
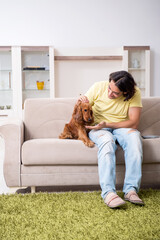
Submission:
<svg viewBox="0 0 160 240">
<path fill-rule="evenodd" d="M 89 103 L 78 101 L 74 107 L 72 118 L 65 125 L 63 132 L 59 136 L 60 139 L 78 139 L 88 147 L 93 147 L 94 143 L 87 136 L 85 126 L 94 122 L 92 107 Z"/>
</svg>

